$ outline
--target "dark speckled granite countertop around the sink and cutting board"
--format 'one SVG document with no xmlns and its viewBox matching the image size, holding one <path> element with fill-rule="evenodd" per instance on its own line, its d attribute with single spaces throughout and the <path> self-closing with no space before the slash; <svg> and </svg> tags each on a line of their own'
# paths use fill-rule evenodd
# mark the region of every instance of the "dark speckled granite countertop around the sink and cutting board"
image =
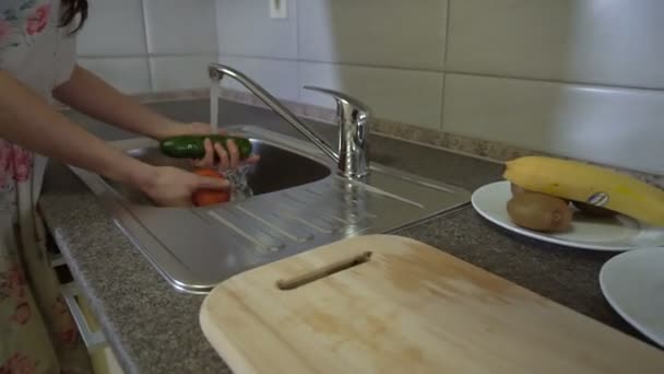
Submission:
<svg viewBox="0 0 664 374">
<path fill-rule="evenodd" d="M 181 120 L 205 121 L 208 101 L 151 104 Z M 299 137 L 272 113 L 221 101 L 222 125 L 254 125 Z M 108 140 L 131 135 L 79 114 L 79 124 Z M 336 129 L 315 124 L 332 140 Z M 372 160 L 467 190 L 500 179 L 501 166 L 384 137 L 370 139 Z M 201 295 L 176 291 L 115 225 L 93 194 L 62 164 L 51 162 L 39 209 L 87 296 L 118 361 L 128 373 L 223 373 L 225 363 L 198 323 Z M 639 336 L 605 302 L 597 274 L 609 253 L 580 250 L 515 236 L 470 206 L 395 232 L 436 246 L 562 305 Z"/>
</svg>

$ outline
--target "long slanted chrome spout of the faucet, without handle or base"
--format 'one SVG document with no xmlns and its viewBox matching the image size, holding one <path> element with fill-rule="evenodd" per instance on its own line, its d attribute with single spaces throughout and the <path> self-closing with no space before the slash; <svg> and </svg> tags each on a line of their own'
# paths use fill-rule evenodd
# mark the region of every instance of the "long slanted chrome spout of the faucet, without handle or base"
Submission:
<svg viewBox="0 0 664 374">
<path fill-rule="evenodd" d="M 241 72 L 220 63 L 211 63 L 208 68 L 210 73 L 210 79 L 220 82 L 224 77 L 228 75 L 239 83 L 241 83 L 245 87 L 251 91 L 258 98 L 260 98 L 265 105 L 268 105 L 272 110 L 278 114 L 284 120 L 286 120 L 290 126 L 295 127 L 303 136 L 309 139 L 313 144 L 316 144 L 324 154 L 327 154 L 330 159 L 332 159 L 335 163 L 339 162 L 339 154 L 332 150 L 332 147 L 328 144 L 320 136 L 318 136 L 313 130 L 311 130 L 307 125 L 300 121 L 286 106 L 284 106 L 278 100 L 272 96 L 268 91 L 261 87 L 258 83 L 249 79 L 249 77 L 242 74 Z"/>
</svg>

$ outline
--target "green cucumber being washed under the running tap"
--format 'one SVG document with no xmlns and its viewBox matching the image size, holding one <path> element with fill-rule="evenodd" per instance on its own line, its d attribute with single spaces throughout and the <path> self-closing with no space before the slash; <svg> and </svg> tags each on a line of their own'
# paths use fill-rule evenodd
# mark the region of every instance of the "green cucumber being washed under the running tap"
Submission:
<svg viewBox="0 0 664 374">
<path fill-rule="evenodd" d="M 159 150 L 171 157 L 202 159 L 205 156 L 205 145 L 203 144 L 205 139 L 212 140 L 213 143 L 222 144 L 226 151 L 228 151 L 226 141 L 233 139 L 240 152 L 240 160 L 245 160 L 251 155 L 251 142 L 249 139 L 222 135 L 171 137 L 159 142 Z"/>
</svg>

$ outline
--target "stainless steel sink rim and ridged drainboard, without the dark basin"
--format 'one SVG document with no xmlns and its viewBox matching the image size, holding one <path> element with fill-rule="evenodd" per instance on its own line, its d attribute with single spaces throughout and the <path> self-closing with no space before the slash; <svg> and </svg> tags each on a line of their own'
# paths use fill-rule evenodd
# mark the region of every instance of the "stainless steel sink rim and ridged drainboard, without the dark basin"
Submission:
<svg viewBox="0 0 664 374">
<path fill-rule="evenodd" d="M 128 186 L 72 167 L 179 290 L 206 293 L 245 270 L 348 236 L 393 231 L 470 200 L 465 190 L 376 163 L 361 182 L 348 179 L 308 142 L 252 126 L 230 130 L 250 138 L 261 155 L 248 178 L 256 195 L 246 200 L 161 208 Z M 189 167 L 162 155 L 152 140 L 116 145 L 154 165 Z"/>
</svg>

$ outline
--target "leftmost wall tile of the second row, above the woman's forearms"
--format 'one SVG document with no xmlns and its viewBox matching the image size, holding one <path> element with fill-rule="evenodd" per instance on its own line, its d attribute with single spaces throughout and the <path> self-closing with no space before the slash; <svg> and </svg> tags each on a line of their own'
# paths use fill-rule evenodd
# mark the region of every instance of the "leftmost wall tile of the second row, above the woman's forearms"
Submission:
<svg viewBox="0 0 664 374">
<path fill-rule="evenodd" d="M 150 92 L 147 60 L 142 57 L 79 58 L 79 65 L 126 93 Z"/>
</svg>

